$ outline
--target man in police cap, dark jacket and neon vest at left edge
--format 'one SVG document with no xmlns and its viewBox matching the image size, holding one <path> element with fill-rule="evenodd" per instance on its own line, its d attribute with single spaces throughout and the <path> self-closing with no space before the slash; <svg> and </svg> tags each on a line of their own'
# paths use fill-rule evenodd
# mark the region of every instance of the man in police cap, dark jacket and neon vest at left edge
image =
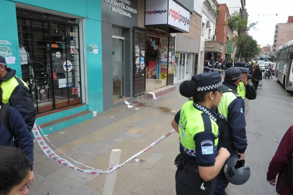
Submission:
<svg viewBox="0 0 293 195">
<path fill-rule="evenodd" d="M 0 56 L 0 86 L 2 102 L 18 109 L 24 118 L 27 130 L 31 131 L 36 119 L 34 103 L 27 84 L 15 76 L 16 71 L 8 68 L 5 58 Z"/>
</svg>

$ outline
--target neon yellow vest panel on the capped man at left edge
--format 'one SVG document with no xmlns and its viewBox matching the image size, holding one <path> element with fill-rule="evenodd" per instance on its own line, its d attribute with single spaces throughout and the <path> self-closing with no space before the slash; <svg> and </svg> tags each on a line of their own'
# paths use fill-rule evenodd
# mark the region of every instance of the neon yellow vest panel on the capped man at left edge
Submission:
<svg viewBox="0 0 293 195">
<path fill-rule="evenodd" d="M 3 103 L 9 103 L 9 98 L 14 91 L 15 87 L 18 85 L 24 85 L 27 87 L 27 83 L 25 83 L 23 80 L 18 78 L 17 76 L 11 77 L 8 80 L 5 80 L 1 83 L 2 88 L 2 102 Z"/>
</svg>

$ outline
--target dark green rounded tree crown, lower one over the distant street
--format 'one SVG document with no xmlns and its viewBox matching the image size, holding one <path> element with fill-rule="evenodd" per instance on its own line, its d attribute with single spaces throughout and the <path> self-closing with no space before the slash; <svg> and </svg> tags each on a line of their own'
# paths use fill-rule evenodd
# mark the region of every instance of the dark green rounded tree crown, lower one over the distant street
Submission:
<svg viewBox="0 0 293 195">
<path fill-rule="evenodd" d="M 257 47 L 257 41 L 249 35 L 244 35 L 244 37 L 246 42 L 244 43 L 243 49 L 240 49 L 242 51 L 242 56 L 248 59 L 254 58 L 260 53 L 260 48 Z"/>
</svg>

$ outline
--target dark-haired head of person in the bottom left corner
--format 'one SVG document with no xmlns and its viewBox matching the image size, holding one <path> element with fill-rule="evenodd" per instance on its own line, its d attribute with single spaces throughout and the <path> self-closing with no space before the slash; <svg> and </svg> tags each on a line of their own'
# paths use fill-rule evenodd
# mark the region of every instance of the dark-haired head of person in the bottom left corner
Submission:
<svg viewBox="0 0 293 195">
<path fill-rule="evenodd" d="M 0 146 L 0 194 L 27 195 L 31 163 L 18 148 Z"/>
</svg>

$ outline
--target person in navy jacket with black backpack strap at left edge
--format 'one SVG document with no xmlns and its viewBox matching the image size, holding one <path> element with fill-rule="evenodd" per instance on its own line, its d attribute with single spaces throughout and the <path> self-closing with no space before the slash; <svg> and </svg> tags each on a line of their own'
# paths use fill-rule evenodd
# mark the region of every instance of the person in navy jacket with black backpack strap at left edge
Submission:
<svg viewBox="0 0 293 195">
<path fill-rule="evenodd" d="M 3 113 L 3 114 L 2 114 Z M 0 88 L 0 145 L 19 148 L 31 161 L 31 180 L 34 181 L 34 143 L 31 133 L 27 130 L 24 118 L 18 109 L 2 103 L 2 89 Z M 5 120 L 5 121 L 2 121 Z M 2 154 L 0 153 L 0 156 Z M 1 193 L 0 193 L 1 195 Z"/>
</svg>

